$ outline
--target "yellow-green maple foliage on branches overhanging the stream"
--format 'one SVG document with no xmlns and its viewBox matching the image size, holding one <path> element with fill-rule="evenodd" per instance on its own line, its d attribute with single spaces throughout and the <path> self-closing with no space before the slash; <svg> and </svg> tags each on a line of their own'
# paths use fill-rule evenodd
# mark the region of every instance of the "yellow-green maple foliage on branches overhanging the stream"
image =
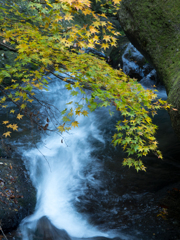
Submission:
<svg viewBox="0 0 180 240">
<path fill-rule="evenodd" d="M 112 4 L 118 9 L 120 0 L 113 0 Z M 77 23 L 78 17 L 86 19 L 86 23 Z M 19 120 L 26 116 L 40 129 L 53 130 L 49 129 L 49 119 L 42 126 L 37 113 L 29 107 L 38 101 L 36 90 L 48 90 L 51 79 L 48 81 L 44 75 L 52 73 L 66 82 L 66 89 L 72 95 L 79 92 L 84 95 L 83 104 L 67 103 L 72 108 L 64 107 L 62 122 L 54 130 L 63 133 L 78 127 L 78 121 L 72 121 L 71 117 L 87 116 L 87 106 L 94 111 L 113 104 L 123 116 L 113 136 L 114 146 L 121 144 L 128 154 L 123 165 L 145 170 L 140 159 L 150 151 L 162 158 L 154 136 L 157 126 L 151 116 L 157 109 L 167 108 L 166 103 L 156 100 L 154 91 L 145 90 L 122 70 L 112 69 L 104 59 L 84 52 L 88 47 L 106 50 L 116 46 L 119 33 L 105 13 L 92 11 L 89 0 L 21 0 L 0 8 L 0 23 L 0 44 L 17 53 L 14 65 L 6 65 L 0 72 L 1 107 L 6 108 L 6 101 L 11 100 L 19 109 L 19 112 L 12 109 L 9 114 L 15 114 Z M 34 70 L 29 66 L 34 66 Z M 7 78 L 11 81 L 8 85 Z M 90 98 L 86 96 L 86 88 L 92 91 Z M 7 128 L 4 137 L 18 131 L 17 124 L 8 120 L 3 124 Z"/>
</svg>

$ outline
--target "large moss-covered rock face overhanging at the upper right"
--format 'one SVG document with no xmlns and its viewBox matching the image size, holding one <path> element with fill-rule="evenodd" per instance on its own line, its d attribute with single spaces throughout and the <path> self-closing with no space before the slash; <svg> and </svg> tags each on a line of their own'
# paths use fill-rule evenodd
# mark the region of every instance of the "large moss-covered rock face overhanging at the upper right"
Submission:
<svg viewBox="0 0 180 240">
<path fill-rule="evenodd" d="M 180 1 L 122 0 L 119 22 L 164 83 L 172 125 L 180 137 Z M 172 109 L 172 108 L 171 108 Z"/>
</svg>

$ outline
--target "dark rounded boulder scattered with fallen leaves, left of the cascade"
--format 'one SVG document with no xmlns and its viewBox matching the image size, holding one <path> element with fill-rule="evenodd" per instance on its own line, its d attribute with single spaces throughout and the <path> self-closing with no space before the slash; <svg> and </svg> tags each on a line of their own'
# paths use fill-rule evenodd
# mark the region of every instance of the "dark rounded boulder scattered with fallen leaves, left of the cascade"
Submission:
<svg viewBox="0 0 180 240">
<path fill-rule="evenodd" d="M 4 232 L 17 228 L 34 211 L 36 191 L 19 159 L 0 158 L 0 222 Z"/>
</svg>

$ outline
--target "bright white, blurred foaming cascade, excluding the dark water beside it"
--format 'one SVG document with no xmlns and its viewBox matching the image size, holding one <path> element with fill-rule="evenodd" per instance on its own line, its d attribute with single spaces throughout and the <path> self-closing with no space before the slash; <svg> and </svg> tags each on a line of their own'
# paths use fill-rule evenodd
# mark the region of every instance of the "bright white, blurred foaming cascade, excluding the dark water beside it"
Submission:
<svg viewBox="0 0 180 240">
<path fill-rule="evenodd" d="M 51 84 L 49 92 L 45 92 L 44 96 L 46 100 L 53 97 L 53 104 L 60 111 L 64 109 L 65 103 L 80 99 L 79 96 L 70 96 L 64 83 L 58 81 Z M 99 184 L 94 179 L 93 172 L 99 171 L 101 166 L 91 157 L 93 147 L 88 139 L 95 138 L 102 145 L 104 143 L 95 114 L 81 116 L 76 120 L 80 122 L 79 127 L 63 134 L 63 139 L 57 133 L 42 135 L 39 150 L 34 148 L 24 151 L 25 164 L 37 189 L 37 205 L 35 213 L 21 223 L 23 239 L 29 238 L 28 229 L 34 230 L 38 219 L 44 215 L 72 237 L 108 236 L 88 224 L 86 217 L 79 214 L 73 206 L 73 202 L 80 201 L 77 195 L 83 194 L 87 182 Z M 84 170 L 89 164 L 91 171 L 85 175 Z"/>
</svg>

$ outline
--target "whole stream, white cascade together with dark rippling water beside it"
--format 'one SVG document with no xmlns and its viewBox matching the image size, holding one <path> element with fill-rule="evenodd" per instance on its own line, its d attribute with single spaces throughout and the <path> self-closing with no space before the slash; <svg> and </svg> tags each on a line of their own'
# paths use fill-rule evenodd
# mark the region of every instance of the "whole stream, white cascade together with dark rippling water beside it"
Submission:
<svg viewBox="0 0 180 240">
<path fill-rule="evenodd" d="M 49 92 L 42 92 L 42 99 L 60 111 L 65 103 L 80 101 L 80 96 L 70 96 L 64 83 L 51 78 Z M 166 97 L 164 89 L 159 96 Z M 111 117 L 108 109 L 102 108 L 78 117 L 79 127 L 62 136 L 42 134 L 36 139 L 35 135 L 37 148 L 31 147 L 28 138 L 26 144 L 24 138 L 23 145 L 22 140 L 16 143 L 37 189 L 35 212 L 20 225 L 24 240 L 33 239 L 43 216 L 72 239 L 178 239 L 169 237 L 172 231 L 174 235 L 178 232 L 176 225 L 157 218 L 160 198 L 178 184 L 180 175 L 176 161 L 180 144 L 169 116 L 163 111 L 155 117 L 164 160 L 153 155 L 144 158 L 146 173 L 122 167 L 124 153 L 111 145 L 119 117 L 118 112 Z"/>
</svg>

